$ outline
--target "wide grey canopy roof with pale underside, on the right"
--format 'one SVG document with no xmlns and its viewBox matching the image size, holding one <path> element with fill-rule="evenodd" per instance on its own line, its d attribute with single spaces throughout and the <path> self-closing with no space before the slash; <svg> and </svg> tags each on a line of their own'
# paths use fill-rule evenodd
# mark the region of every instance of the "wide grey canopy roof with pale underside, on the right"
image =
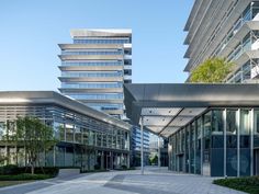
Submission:
<svg viewBox="0 0 259 194">
<path fill-rule="evenodd" d="M 126 115 L 155 134 L 169 137 L 210 107 L 259 107 L 259 84 L 128 83 Z"/>
</svg>

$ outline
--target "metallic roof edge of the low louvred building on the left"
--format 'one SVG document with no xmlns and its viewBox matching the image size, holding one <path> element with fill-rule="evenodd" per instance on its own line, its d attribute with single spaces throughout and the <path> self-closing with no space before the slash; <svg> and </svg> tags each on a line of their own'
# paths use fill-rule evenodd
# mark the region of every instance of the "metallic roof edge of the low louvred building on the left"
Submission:
<svg viewBox="0 0 259 194">
<path fill-rule="evenodd" d="M 0 91 L 1 105 L 56 104 L 104 123 L 131 129 L 131 125 L 55 91 Z"/>
</svg>

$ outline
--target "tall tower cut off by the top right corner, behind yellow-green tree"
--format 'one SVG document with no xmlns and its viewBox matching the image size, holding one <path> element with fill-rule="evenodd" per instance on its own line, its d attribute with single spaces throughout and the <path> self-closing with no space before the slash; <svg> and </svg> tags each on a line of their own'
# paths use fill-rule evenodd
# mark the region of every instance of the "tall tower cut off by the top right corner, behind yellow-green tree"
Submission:
<svg viewBox="0 0 259 194">
<path fill-rule="evenodd" d="M 184 44 L 189 45 L 184 71 L 191 75 L 205 59 L 221 57 L 235 65 L 225 82 L 257 82 L 258 13 L 258 0 L 195 0 L 184 27 Z"/>
</svg>

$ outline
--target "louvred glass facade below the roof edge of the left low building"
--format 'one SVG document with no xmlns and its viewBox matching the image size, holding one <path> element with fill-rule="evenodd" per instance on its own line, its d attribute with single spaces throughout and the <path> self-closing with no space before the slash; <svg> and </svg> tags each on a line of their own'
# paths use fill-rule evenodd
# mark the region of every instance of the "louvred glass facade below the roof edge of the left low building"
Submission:
<svg viewBox="0 0 259 194">
<path fill-rule="evenodd" d="M 0 153 L 11 156 L 9 164 L 26 162 L 22 147 L 7 146 L 4 141 L 9 133 L 7 124 L 15 132 L 14 121 L 25 115 L 36 116 L 53 127 L 58 140 L 54 149 L 41 153 L 44 166 L 92 170 L 94 166 L 113 169 L 130 163 L 130 130 L 61 106 L 15 105 L 0 106 Z"/>
</svg>

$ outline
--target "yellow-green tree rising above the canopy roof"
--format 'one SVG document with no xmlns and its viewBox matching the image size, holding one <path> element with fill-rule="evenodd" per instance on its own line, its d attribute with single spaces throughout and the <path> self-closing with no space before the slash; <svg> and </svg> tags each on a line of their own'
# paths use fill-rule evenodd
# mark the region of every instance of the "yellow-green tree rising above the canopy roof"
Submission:
<svg viewBox="0 0 259 194">
<path fill-rule="evenodd" d="M 219 83 L 232 71 L 233 64 L 222 58 L 210 58 L 199 65 L 191 75 L 190 82 Z"/>
</svg>

